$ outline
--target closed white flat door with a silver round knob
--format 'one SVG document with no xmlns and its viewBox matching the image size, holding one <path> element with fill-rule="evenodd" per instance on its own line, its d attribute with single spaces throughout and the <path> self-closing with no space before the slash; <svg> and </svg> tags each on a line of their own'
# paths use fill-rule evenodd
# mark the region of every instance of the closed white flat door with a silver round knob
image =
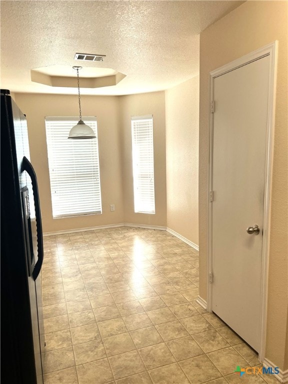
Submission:
<svg viewBox="0 0 288 384">
<path fill-rule="evenodd" d="M 214 78 L 212 311 L 256 351 L 269 57 Z M 259 227 L 257 230 L 247 227 Z"/>
</svg>

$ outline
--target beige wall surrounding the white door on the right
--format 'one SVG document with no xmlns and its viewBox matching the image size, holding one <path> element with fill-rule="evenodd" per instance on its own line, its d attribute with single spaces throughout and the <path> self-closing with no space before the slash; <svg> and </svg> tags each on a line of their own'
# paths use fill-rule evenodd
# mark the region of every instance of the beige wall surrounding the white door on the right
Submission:
<svg viewBox="0 0 288 384">
<path fill-rule="evenodd" d="M 268 317 L 265 357 L 284 369 L 287 316 L 287 5 L 246 1 L 200 34 L 199 246 L 200 296 L 206 298 L 208 74 L 278 40 Z"/>
</svg>

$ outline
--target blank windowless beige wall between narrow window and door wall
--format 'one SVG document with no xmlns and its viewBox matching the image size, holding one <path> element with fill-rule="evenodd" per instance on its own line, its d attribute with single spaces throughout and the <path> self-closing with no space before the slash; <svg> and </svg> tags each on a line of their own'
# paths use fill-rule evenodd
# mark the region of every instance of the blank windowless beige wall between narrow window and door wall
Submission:
<svg viewBox="0 0 288 384">
<path fill-rule="evenodd" d="M 167 227 L 198 245 L 199 76 L 165 91 Z"/>
</svg>

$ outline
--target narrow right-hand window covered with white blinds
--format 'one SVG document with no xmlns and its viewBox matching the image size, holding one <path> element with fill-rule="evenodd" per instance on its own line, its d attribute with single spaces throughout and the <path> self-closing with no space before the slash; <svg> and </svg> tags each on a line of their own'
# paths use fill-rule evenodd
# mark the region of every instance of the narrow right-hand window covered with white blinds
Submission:
<svg viewBox="0 0 288 384">
<path fill-rule="evenodd" d="M 134 211 L 155 213 L 153 117 L 132 116 Z"/>
</svg>

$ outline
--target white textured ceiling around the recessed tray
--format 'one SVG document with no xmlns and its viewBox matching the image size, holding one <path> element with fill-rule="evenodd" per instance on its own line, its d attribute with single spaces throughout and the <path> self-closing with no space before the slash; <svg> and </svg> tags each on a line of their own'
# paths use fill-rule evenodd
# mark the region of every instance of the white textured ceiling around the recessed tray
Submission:
<svg viewBox="0 0 288 384">
<path fill-rule="evenodd" d="M 0 1 L 1 88 L 74 93 L 75 88 L 32 82 L 30 69 L 81 65 L 113 68 L 126 75 L 117 85 L 96 89 L 82 88 L 80 82 L 81 94 L 167 89 L 198 73 L 199 33 L 241 3 Z M 76 61 L 76 52 L 106 57 L 103 62 Z"/>
</svg>

